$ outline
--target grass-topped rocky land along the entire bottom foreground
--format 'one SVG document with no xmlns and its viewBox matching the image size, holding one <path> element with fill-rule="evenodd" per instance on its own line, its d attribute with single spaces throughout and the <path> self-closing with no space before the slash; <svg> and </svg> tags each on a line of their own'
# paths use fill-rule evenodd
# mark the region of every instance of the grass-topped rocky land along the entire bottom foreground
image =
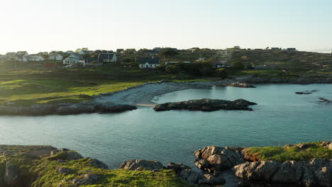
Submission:
<svg viewBox="0 0 332 187">
<path fill-rule="evenodd" d="M 332 183 L 332 142 L 284 147 L 216 147 L 194 152 L 197 171 L 131 159 L 119 169 L 70 149 L 0 145 L 1 187 L 76 186 L 322 186 Z M 139 184 L 139 185 L 138 185 Z"/>
</svg>

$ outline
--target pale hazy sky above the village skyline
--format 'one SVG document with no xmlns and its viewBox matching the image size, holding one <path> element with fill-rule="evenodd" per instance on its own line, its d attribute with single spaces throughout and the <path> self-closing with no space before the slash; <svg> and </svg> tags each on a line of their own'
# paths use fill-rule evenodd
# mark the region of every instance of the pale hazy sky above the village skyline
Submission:
<svg viewBox="0 0 332 187">
<path fill-rule="evenodd" d="M 1 0 L 0 54 L 152 47 L 332 52 L 331 0 Z"/>
</svg>

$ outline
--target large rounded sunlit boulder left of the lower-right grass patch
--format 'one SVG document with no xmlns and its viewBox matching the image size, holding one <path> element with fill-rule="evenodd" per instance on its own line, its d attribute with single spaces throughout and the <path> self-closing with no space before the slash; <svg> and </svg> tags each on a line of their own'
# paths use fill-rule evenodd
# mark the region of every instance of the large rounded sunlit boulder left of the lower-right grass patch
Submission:
<svg viewBox="0 0 332 187">
<path fill-rule="evenodd" d="M 245 163 L 242 150 L 242 147 L 204 147 L 194 152 L 197 157 L 195 165 L 211 173 L 231 169 L 233 166 Z"/>
</svg>

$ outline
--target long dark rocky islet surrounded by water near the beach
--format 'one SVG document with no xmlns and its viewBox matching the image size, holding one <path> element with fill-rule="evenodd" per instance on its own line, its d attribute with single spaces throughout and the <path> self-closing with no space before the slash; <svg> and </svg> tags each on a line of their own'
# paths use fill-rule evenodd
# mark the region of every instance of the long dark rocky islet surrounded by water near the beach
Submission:
<svg viewBox="0 0 332 187">
<path fill-rule="evenodd" d="M 155 111 L 170 111 L 170 110 L 188 110 L 188 111 L 218 111 L 218 110 L 241 110 L 253 111 L 248 106 L 257 105 L 242 98 L 235 101 L 226 101 L 221 99 L 197 99 L 190 101 L 182 101 L 175 103 L 163 103 L 156 105 L 153 108 Z"/>
</svg>

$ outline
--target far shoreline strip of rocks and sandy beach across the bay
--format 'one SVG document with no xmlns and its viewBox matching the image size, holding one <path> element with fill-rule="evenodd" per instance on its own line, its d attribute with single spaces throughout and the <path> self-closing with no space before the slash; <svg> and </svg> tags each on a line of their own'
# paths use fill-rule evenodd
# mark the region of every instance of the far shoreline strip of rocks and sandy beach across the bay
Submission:
<svg viewBox="0 0 332 187">
<path fill-rule="evenodd" d="M 118 113 L 131 111 L 136 106 L 155 105 L 151 99 L 172 91 L 185 89 L 210 89 L 211 86 L 239 86 L 250 88 L 250 84 L 332 84 L 332 77 L 299 77 L 297 79 L 277 79 L 245 77 L 244 79 L 224 79 L 221 81 L 193 82 L 148 82 L 122 91 L 92 96 L 94 101 L 81 103 L 46 103 L 32 106 L 0 106 L 0 115 L 73 115 L 81 113 Z"/>
</svg>

